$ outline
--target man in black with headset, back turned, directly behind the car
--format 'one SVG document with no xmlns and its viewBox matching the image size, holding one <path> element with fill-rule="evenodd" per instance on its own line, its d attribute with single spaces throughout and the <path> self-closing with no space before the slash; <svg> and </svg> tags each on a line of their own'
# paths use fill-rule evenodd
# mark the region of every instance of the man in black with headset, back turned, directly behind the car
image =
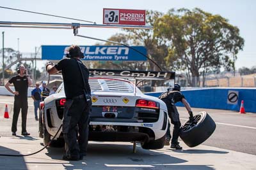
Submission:
<svg viewBox="0 0 256 170">
<path fill-rule="evenodd" d="M 84 55 L 79 46 L 72 45 L 69 47 L 68 51 L 67 57 L 70 59 L 62 59 L 55 66 L 49 63 L 46 66 L 46 70 L 49 74 L 61 71 L 63 76 L 66 102 L 62 132 L 67 146 L 66 154 L 63 155 L 63 159 L 79 160 L 83 159 L 83 156 L 85 156 L 87 152 L 88 121 L 92 106 L 92 100 L 88 99 L 88 97 L 90 98 L 91 90 L 88 83 L 89 71 L 87 67 L 84 66 L 83 62 L 81 62 Z M 83 76 L 79 66 L 81 66 Z M 77 124 L 79 128 L 78 139 L 76 134 Z"/>
</svg>

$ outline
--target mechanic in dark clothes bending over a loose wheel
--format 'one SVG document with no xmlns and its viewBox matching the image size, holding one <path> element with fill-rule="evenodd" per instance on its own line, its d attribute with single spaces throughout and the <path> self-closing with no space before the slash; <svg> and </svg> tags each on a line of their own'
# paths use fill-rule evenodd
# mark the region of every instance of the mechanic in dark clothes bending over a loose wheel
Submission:
<svg viewBox="0 0 256 170">
<path fill-rule="evenodd" d="M 159 96 L 159 99 L 164 101 L 164 103 L 167 106 L 168 109 L 168 115 L 171 119 L 171 123 L 174 125 L 173 127 L 173 133 L 172 136 L 170 134 L 170 123 L 168 123 L 168 129 L 166 132 L 166 141 L 169 143 L 170 138 L 172 138 L 172 144 L 171 148 L 175 148 L 177 150 L 182 150 L 182 147 L 179 145 L 178 138 L 179 138 L 179 132 L 180 132 L 180 118 L 179 118 L 179 112 L 175 106 L 175 103 L 182 102 L 184 106 L 186 107 L 186 110 L 188 110 L 189 113 L 189 120 L 193 121 L 193 112 L 191 110 L 191 107 L 189 106 L 188 101 L 186 101 L 184 95 L 180 92 L 180 85 L 176 84 L 174 85 L 174 88 L 168 89 L 167 92 L 164 92 Z"/>
</svg>

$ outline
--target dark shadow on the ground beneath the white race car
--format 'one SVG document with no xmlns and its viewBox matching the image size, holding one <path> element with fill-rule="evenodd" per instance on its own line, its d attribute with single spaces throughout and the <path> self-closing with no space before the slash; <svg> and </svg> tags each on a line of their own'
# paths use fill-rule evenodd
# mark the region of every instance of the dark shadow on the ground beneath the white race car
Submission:
<svg viewBox="0 0 256 170">
<path fill-rule="evenodd" d="M 51 159 L 61 160 L 63 148 L 47 148 Z M 160 151 L 160 152 L 159 152 Z M 161 150 L 143 150 L 139 145 L 132 153 L 132 145 L 90 143 L 87 156 L 79 161 L 63 161 L 65 169 L 212 169 L 212 165 L 178 165 L 188 162 L 166 155 Z M 177 165 L 175 165 L 177 164 Z"/>
</svg>

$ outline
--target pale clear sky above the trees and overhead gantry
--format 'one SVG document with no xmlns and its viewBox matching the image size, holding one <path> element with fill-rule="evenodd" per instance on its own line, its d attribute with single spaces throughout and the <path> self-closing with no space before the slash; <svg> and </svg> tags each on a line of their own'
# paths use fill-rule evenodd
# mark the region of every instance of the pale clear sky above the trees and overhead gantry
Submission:
<svg viewBox="0 0 256 170">
<path fill-rule="evenodd" d="M 244 48 L 237 55 L 236 69 L 256 66 L 256 1 L 254 0 L 0 0 L 0 6 L 17 8 L 20 10 L 36 11 L 62 17 L 89 20 L 102 24 L 103 8 L 156 10 L 166 13 L 171 8 L 200 8 L 213 15 L 227 18 L 229 23 L 237 26 L 240 36 L 244 38 Z M 22 11 L 6 10 L 0 8 L 0 21 L 9 22 L 52 22 L 68 23 L 78 22 L 64 18 L 48 17 Z M 80 24 L 89 24 L 79 22 Z M 13 48 L 21 53 L 35 52 L 35 47 L 41 45 L 94 45 L 99 43 L 92 39 L 76 37 L 72 29 L 24 29 L 0 27 L 4 31 L 4 47 Z M 79 34 L 94 38 L 108 39 L 121 29 L 113 28 L 87 28 L 79 29 Z M 2 33 L 0 34 L 2 39 Z M 101 42 L 100 42 L 101 43 Z M 0 40 L 0 48 L 3 41 Z M 2 60 L 1 60 L 2 62 Z"/>
</svg>

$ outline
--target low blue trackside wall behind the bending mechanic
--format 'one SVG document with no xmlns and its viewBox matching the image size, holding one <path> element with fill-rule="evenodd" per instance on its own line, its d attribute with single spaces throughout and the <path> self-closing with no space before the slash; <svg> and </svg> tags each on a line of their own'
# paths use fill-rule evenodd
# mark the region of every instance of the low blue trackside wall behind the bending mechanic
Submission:
<svg viewBox="0 0 256 170">
<path fill-rule="evenodd" d="M 237 104 L 228 104 L 228 90 L 239 92 Z M 161 92 L 145 93 L 149 96 L 160 96 Z M 221 110 L 239 111 L 241 101 L 244 101 L 244 109 L 246 112 L 256 113 L 256 89 L 196 89 L 182 90 L 182 94 L 186 97 L 190 106 L 193 108 L 209 108 Z M 177 103 L 177 106 L 184 106 L 182 103 Z"/>
</svg>

